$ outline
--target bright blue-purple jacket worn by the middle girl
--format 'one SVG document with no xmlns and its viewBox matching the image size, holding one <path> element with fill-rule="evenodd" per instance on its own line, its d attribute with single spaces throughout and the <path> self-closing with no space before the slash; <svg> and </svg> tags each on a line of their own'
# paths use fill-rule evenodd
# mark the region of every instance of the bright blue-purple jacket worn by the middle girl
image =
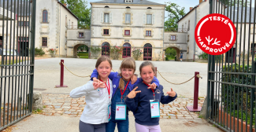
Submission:
<svg viewBox="0 0 256 132">
<path fill-rule="evenodd" d="M 91 73 L 91 80 L 92 80 L 92 78 L 98 79 L 98 71 L 96 69 Z M 113 84 L 113 94 L 112 94 L 112 97 L 113 97 L 113 95 L 115 95 L 115 93 L 117 92 L 121 76 L 119 75 L 118 72 L 110 72 L 109 79 L 112 80 L 112 84 Z M 128 84 L 129 90 L 132 91 L 133 87 L 136 84 L 141 83 L 141 82 L 143 82 L 143 79 L 141 79 L 141 78 L 138 78 L 134 84 L 132 84 L 132 82 L 130 81 L 130 83 Z M 152 83 L 155 83 L 157 86 L 159 85 L 159 81 L 156 77 L 154 77 Z"/>
</svg>

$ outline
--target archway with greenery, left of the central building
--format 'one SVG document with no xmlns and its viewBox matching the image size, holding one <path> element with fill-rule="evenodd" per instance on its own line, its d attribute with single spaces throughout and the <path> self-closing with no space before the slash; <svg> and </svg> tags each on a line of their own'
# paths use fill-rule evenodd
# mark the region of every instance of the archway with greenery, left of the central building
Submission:
<svg viewBox="0 0 256 132">
<path fill-rule="evenodd" d="M 80 56 L 84 56 L 83 58 L 88 58 L 88 46 L 84 45 L 84 44 L 78 44 L 76 46 L 74 46 L 74 50 L 73 50 L 73 56 L 76 57 L 80 57 Z M 87 57 L 85 57 L 87 56 Z"/>
</svg>

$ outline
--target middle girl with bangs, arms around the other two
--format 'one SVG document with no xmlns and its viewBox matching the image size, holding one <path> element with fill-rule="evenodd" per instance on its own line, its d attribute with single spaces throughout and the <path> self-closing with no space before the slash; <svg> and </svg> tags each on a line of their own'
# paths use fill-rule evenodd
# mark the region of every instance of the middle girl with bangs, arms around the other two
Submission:
<svg viewBox="0 0 256 132">
<path fill-rule="evenodd" d="M 116 124 L 118 131 L 128 132 L 128 108 L 126 107 L 125 99 L 130 91 L 132 91 L 133 86 L 142 82 L 142 79 L 136 79 L 134 84 L 131 83 L 135 68 L 134 59 L 132 57 L 127 57 L 121 63 L 121 73 L 111 72 L 109 75 L 109 79 L 112 79 L 113 82 L 113 94 L 111 100 L 111 119 L 109 120 L 109 123 L 106 123 L 106 132 L 113 132 Z M 91 78 L 94 78 L 94 81 L 98 81 L 95 80 L 97 77 L 98 72 L 94 70 Z M 158 79 L 154 77 L 154 82 L 152 82 L 152 84 L 150 83 L 148 88 L 155 89 L 158 84 Z"/>
</svg>

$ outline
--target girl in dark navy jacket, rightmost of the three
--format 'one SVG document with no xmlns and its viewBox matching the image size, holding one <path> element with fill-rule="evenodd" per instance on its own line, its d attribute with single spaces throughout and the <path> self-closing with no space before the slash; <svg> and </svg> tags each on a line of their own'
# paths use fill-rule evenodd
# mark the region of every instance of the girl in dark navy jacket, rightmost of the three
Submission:
<svg viewBox="0 0 256 132">
<path fill-rule="evenodd" d="M 161 132 L 159 102 L 168 104 L 176 99 L 177 94 L 171 88 L 171 91 L 167 92 L 168 96 L 165 96 L 161 85 L 156 90 L 147 89 L 154 79 L 154 65 L 151 62 L 143 62 L 139 67 L 139 72 L 143 82 L 135 85 L 135 89 L 128 94 L 126 105 L 135 116 L 137 132 Z"/>
</svg>

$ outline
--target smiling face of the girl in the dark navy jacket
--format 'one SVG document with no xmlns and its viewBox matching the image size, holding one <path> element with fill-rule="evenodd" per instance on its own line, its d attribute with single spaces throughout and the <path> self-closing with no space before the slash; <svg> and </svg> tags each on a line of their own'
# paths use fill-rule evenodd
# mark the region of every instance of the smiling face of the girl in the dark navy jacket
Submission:
<svg viewBox="0 0 256 132">
<path fill-rule="evenodd" d="M 147 84 L 150 84 L 154 79 L 154 72 L 150 65 L 147 65 L 141 69 L 140 76 L 143 81 Z"/>
</svg>

